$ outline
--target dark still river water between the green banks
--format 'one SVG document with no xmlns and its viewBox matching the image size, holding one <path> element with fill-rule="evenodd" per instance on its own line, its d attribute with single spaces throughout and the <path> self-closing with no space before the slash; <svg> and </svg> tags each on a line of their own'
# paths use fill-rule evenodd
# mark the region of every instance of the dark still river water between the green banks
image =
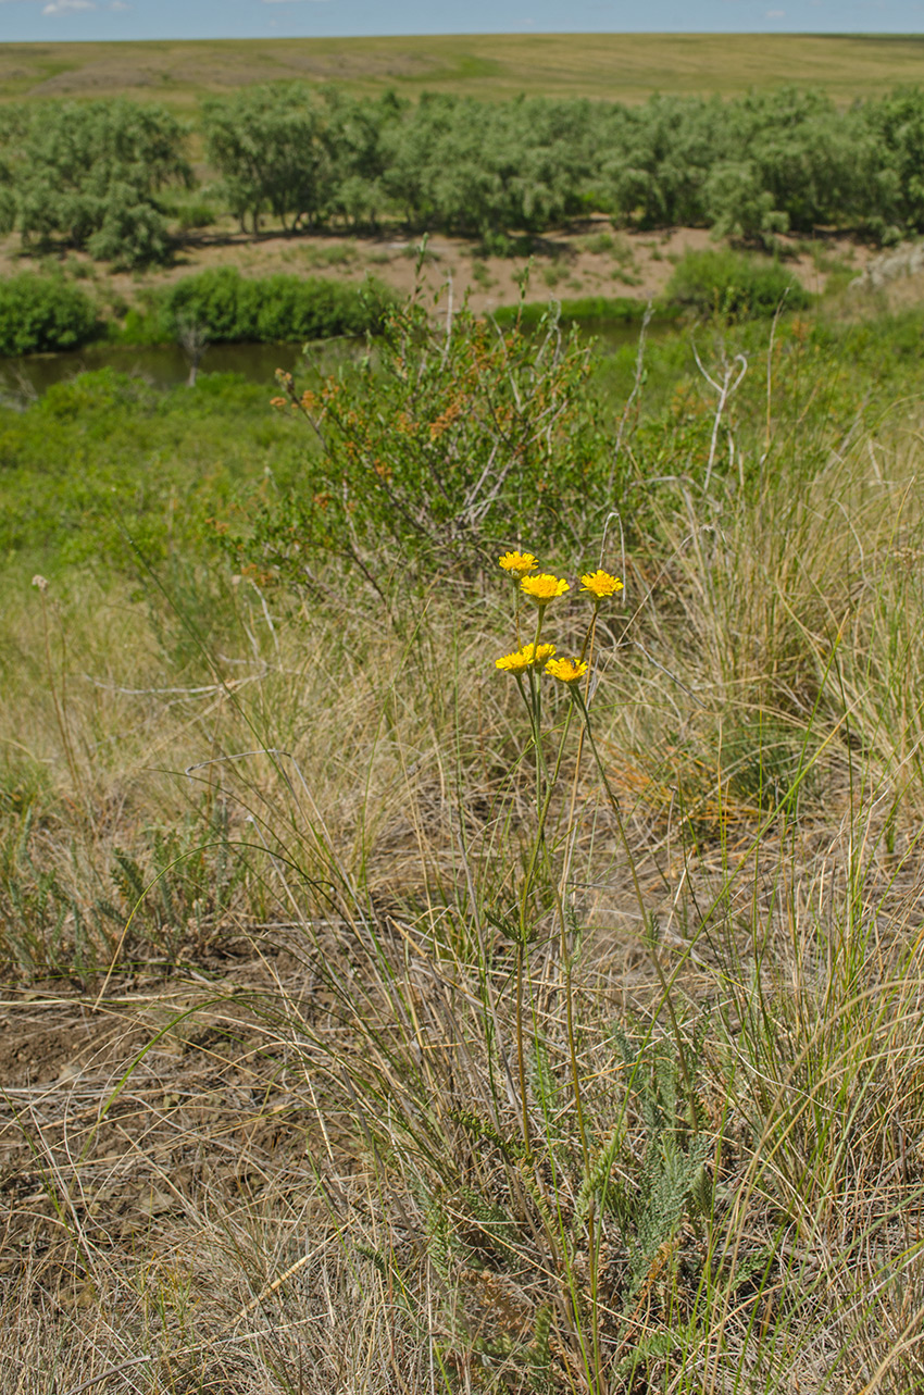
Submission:
<svg viewBox="0 0 924 1395">
<path fill-rule="evenodd" d="M 651 333 L 662 333 L 669 325 L 651 325 Z M 638 325 L 613 321 L 588 322 L 583 326 L 599 339 L 603 352 L 613 352 L 626 343 L 638 340 Z M 312 357 L 318 367 L 330 368 L 337 359 L 355 352 L 362 345 L 357 340 L 330 340 L 314 346 Z M 304 345 L 210 345 L 199 372 L 240 372 L 248 382 L 268 386 L 273 384 L 277 368 L 294 372 L 302 365 Z M 120 372 L 135 374 L 157 388 L 173 388 L 190 377 L 190 364 L 177 345 L 151 345 L 130 347 L 127 345 L 91 345 L 71 353 L 28 354 L 24 359 L 0 359 L 0 395 L 18 400 L 40 396 L 52 384 L 63 382 L 79 372 L 95 368 L 116 368 Z"/>
</svg>

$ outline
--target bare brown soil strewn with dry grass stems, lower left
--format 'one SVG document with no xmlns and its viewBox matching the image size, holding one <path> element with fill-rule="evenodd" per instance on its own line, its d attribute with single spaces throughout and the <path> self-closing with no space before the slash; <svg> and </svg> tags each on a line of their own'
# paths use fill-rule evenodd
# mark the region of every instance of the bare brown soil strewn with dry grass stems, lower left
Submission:
<svg viewBox="0 0 924 1395">
<path fill-rule="evenodd" d="M 100 1003 L 4 993 L 0 1275 L 38 1262 L 56 1288 L 79 1268 L 74 1228 L 102 1250 L 170 1244 L 205 1191 L 259 1189 L 280 1149 L 304 1148 L 304 1102 L 252 1009 L 268 983 L 266 961 L 244 960 Z"/>
</svg>

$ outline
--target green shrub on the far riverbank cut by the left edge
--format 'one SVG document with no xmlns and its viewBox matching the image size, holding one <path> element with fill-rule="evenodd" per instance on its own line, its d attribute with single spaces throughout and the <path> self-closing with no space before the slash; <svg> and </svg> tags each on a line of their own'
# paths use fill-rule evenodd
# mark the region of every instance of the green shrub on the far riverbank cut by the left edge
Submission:
<svg viewBox="0 0 924 1395">
<path fill-rule="evenodd" d="M 93 301 L 61 278 L 0 280 L 0 354 L 77 349 L 98 332 Z"/>
</svg>

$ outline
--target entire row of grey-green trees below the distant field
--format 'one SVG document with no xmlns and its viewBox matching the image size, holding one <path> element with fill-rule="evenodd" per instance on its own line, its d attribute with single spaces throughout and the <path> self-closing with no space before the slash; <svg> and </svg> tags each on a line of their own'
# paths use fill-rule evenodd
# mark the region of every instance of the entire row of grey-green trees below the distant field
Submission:
<svg viewBox="0 0 924 1395">
<path fill-rule="evenodd" d="M 183 190 L 242 229 L 374 230 L 401 220 L 505 251 L 585 212 L 627 226 L 708 226 L 772 246 L 850 227 L 924 232 L 924 91 L 838 109 L 821 92 L 617 102 L 440 93 L 354 98 L 305 84 L 209 98 L 194 130 L 124 99 L 0 110 L 0 230 L 123 265 L 166 259 Z M 208 223 L 217 211 L 206 209 Z"/>
</svg>

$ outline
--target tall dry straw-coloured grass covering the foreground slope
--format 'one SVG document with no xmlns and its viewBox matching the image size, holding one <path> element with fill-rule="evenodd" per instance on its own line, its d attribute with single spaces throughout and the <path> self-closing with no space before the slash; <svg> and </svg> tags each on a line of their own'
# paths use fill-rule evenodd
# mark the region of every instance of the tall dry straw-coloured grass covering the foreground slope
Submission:
<svg viewBox="0 0 924 1395">
<path fill-rule="evenodd" d="M 559 654 L 580 572 L 626 583 L 590 734 L 496 671 L 500 569 L 7 611 L 11 982 L 77 975 L 128 1038 L 7 1095 L 59 1216 L 3 1281 L 10 1389 L 921 1388 L 917 407 L 845 437 L 771 384 L 708 487 L 704 392 L 548 558 Z M 180 1002 L 117 1006 L 170 965 Z M 171 1084 L 195 1032 L 223 1085 Z M 173 1182 L 229 1088 L 237 1183 Z M 92 1209 L 128 1095 L 169 1193 L 130 1244 Z"/>
</svg>

